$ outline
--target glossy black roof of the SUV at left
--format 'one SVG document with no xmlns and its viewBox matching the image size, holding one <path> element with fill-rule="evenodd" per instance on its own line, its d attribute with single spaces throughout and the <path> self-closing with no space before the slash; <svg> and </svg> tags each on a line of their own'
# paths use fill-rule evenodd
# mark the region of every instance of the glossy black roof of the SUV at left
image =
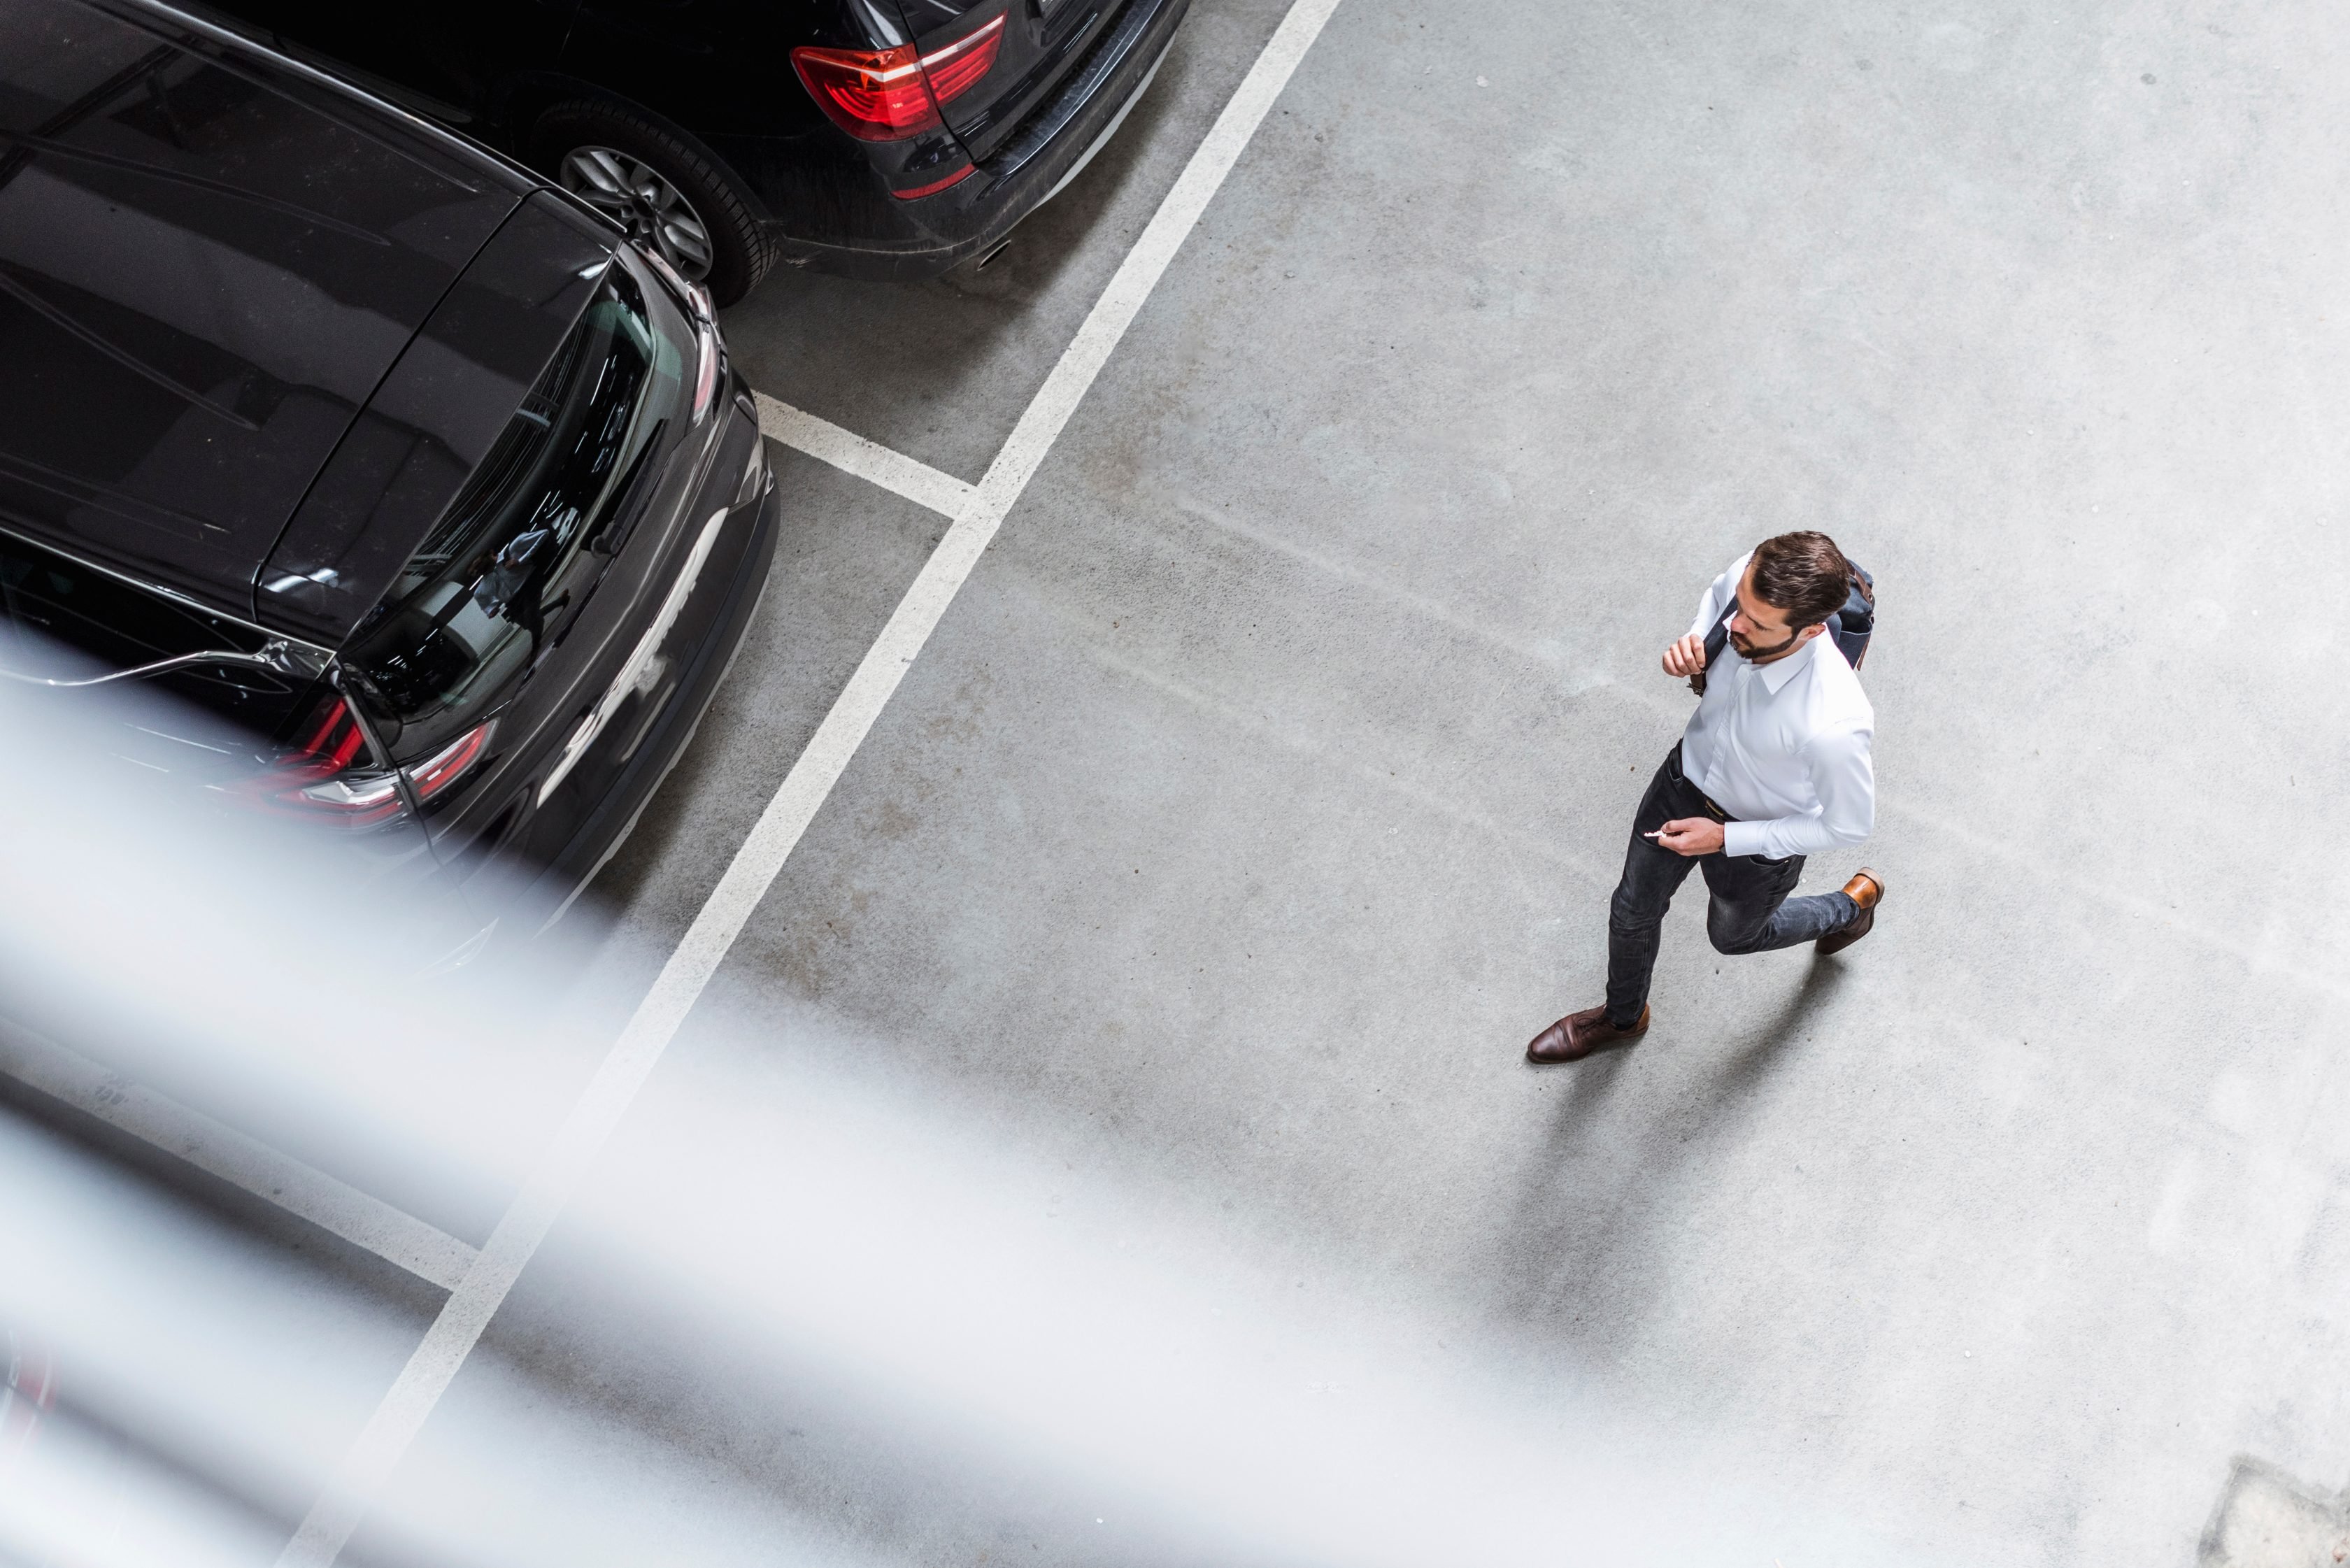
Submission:
<svg viewBox="0 0 2350 1568">
<path fill-rule="evenodd" d="M 531 181 L 183 14 L 0 7 L 0 527 L 226 614 Z"/>
</svg>

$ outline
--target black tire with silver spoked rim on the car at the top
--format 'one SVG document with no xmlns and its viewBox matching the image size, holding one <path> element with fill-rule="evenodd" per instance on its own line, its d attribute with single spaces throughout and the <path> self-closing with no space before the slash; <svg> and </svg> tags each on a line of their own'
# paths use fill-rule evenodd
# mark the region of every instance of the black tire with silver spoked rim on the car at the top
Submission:
<svg viewBox="0 0 2350 1568">
<path fill-rule="evenodd" d="M 776 256 L 768 249 L 766 230 L 752 216 L 754 200 L 707 150 L 625 103 L 578 99 L 538 115 L 529 136 L 531 165 L 566 190 L 583 195 L 606 216 L 618 219 L 639 242 L 656 240 L 651 233 L 656 214 L 649 205 L 637 202 L 632 212 L 625 212 L 609 193 L 585 188 L 588 181 L 571 169 L 571 155 L 592 158 L 592 148 L 644 165 L 682 197 L 689 216 L 707 235 L 710 261 L 700 275 L 691 266 L 679 266 L 679 270 L 686 273 L 689 282 L 707 282 L 712 301 L 731 306 L 766 277 Z M 670 247 L 663 244 L 663 249 Z M 672 252 L 672 261 L 679 254 L 686 252 Z"/>
</svg>

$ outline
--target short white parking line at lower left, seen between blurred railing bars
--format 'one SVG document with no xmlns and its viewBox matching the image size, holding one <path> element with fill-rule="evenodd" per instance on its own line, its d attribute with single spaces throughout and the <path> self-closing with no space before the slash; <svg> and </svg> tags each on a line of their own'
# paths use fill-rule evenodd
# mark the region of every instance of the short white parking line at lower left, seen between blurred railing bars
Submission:
<svg viewBox="0 0 2350 1568">
<path fill-rule="evenodd" d="M 472 1267 L 475 1251 L 449 1232 L 14 1025 L 0 1025 L 0 1072 L 442 1291 Z"/>
</svg>

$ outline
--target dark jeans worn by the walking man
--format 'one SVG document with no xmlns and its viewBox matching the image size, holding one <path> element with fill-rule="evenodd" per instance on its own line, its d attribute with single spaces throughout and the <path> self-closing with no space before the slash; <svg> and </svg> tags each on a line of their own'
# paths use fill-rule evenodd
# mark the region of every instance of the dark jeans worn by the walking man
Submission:
<svg viewBox="0 0 2350 1568">
<path fill-rule="evenodd" d="M 1802 877 L 1802 856 L 1765 860 L 1762 856 L 1676 856 L 1643 832 L 1654 832 L 1683 816 L 1711 816 L 1730 823 L 1720 806 L 1680 776 L 1680 748 L 1647 783 L 1640 811 L 1631 823 L 1631 846 L 1624 851 L 1624 879 L 1607 900 L 1607 1023 L 1629 1030 L 1647 1004 L 1647 973 L 1657 966 L 1657 933 L 1664 910 L 1680 891 L 1690 867 L 1704 867 L 1706 936 L 1716 952 L 1767 952 L 1793 947 L 1849 926 L 1861 905 L 1845 893 L 1788 898 Z"/>
</svg>

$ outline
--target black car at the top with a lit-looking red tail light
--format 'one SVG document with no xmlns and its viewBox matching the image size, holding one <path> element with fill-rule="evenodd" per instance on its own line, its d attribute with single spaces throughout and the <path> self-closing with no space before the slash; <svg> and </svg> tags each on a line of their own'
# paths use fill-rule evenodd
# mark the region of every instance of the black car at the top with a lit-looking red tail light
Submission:
<svg viewBox="0 0 2350 1568">
<path fill-rule="evenodd" d="M 559 179 L 717 303 L 921 277 L 1109 139 L 1189 0 L 212 0 Z"/>
</svg>

